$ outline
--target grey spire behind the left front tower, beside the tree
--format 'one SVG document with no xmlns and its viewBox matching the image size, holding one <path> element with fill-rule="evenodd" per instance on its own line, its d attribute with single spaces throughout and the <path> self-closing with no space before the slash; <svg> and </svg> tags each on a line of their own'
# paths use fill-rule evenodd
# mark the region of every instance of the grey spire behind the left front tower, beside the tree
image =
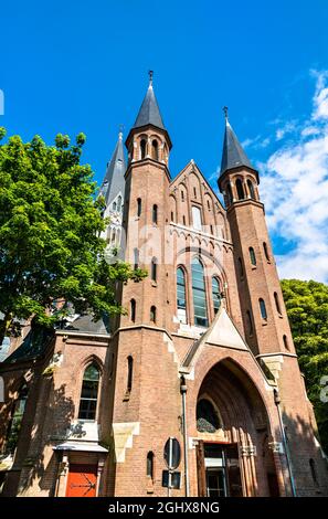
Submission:
<svg viewBox="0 0 328 519">
<path fill-rule="evenodd" d="M 126 172 L 126 162 L 124 156 L 123 146 L 123 126 L 119 127 L 118 140 L 112 156 L 110 161 L 107 165 L 105 178 L 103 180 L 99 194 L 105 197 L 106 205 L 114 200 L 118 193 L 124 194 L 125 179 L 124 173 Z"/>
</svg>

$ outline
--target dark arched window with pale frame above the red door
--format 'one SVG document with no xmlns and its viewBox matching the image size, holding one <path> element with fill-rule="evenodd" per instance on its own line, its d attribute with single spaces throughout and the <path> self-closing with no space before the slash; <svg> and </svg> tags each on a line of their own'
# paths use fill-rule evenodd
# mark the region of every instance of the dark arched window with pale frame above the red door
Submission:
<svg viewBox="0 0 328 519">
<path fill-rule="evenodd" d="M 80 398 L 78 419 L 95 420 L 99 385 L 99 370 L 93 362 L 84 371 Z"/>
</svg>

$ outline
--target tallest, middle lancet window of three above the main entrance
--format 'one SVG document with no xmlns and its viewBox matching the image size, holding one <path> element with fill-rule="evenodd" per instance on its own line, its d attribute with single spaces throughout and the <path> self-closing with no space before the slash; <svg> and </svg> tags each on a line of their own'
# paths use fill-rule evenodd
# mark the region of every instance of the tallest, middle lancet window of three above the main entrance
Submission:
<svg viewBox="0 0 328 519">
<path fill-rule="evenodd" d="M 197 257 L 192 261 L 191 264 L 191 276 L 194 324 L 197 326 L 208 326 L 209 321 L 207 309 L 204 268 Z"/>
</svg>

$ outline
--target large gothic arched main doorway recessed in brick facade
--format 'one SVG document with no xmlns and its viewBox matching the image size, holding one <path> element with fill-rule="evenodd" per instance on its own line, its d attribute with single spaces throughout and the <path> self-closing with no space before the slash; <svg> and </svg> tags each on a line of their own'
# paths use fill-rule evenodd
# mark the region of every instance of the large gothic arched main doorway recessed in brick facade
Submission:
<svg viewBox="0 0 328 519">
<path fill-rule="evenodd" d="M 199 496 L 276 496 L 267 412 L 247 373 L 233 360 L 215 364 L 197 402 Z"/>
</svg>

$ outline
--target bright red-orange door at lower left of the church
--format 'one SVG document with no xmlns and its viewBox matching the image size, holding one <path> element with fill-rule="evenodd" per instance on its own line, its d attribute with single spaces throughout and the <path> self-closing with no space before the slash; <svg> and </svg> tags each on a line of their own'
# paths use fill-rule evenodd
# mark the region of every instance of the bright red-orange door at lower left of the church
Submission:
<svg viewBox="0 0 328 519">
<path fill-rule="evenodd" d="M 71 465 L 66 497 L 96 497 L 97 466 Z"/>
</svg>

